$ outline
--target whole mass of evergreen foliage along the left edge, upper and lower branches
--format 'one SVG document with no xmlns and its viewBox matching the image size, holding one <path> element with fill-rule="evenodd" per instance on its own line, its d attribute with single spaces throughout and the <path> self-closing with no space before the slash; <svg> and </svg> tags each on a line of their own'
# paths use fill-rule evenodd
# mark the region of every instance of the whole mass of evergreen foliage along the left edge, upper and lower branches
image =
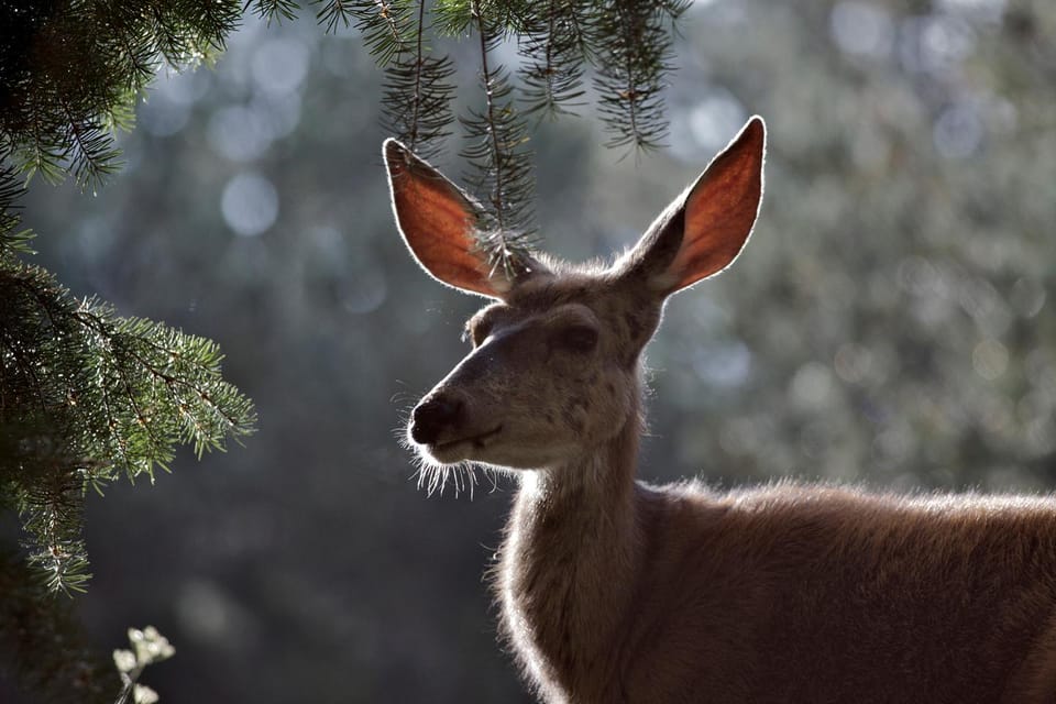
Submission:
<svg viewBox="0 0 1056 704">
<path fill-rule="evenodd" d="M 4 6 L 0 37 L 0 483 L 48 592 L 84 591 L 88 487 L 167 469 L 252 429 L 252 404 L 222 381 L 216 345 L 77 300 L 23 257 L 20 173 L 94 185 L 117 167 L 113 132 L 162 62 L 212 56 L 231 2 Z"/>
</svg>

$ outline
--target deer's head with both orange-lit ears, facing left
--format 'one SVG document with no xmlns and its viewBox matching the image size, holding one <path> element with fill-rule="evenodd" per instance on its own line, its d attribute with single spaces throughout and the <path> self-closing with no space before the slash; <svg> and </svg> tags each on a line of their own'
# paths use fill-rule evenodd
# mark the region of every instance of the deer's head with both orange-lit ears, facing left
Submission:
<svg viewBox="0 0 1056 704">
<path fill-rule="evenodd" d="M 418 263 L 492 299 L 466 324 L 473 350 L 414 409 L 407 435 L 431 464 L 557 470 L 640 431 L 639 358 L 671 294 L 717 274 L 748 240 L 762 197 L 766 129 L 748 121 L 639 242 L 605 267 L 538 254 L 493 266 L 480 206 L 395 140 L 393 209 Z"/>
</svg>

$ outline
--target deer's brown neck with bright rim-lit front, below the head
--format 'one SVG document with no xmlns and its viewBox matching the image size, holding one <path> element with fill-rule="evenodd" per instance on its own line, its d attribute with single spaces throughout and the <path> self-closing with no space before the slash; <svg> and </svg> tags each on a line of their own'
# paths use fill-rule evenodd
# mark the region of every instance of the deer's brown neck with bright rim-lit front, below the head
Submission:
<svg viewBox="0 0 1056 704">
<path fill-rule="evenodd" d="M 506 629 L 532 679 L 565 692 L 613 667 L 637 583 L 640 416 L 635 408 L 597 452 L 525 473 L 507 525 L 498 565 Z"/>
</svg>

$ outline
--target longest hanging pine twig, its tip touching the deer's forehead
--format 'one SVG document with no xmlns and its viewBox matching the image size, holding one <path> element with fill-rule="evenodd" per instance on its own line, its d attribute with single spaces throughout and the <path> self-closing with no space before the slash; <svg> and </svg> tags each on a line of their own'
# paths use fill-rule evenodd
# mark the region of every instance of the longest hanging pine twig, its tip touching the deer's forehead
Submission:
<svg viewBox="0 0 1056 704">
<path fill-rule="evenodd" d="M 525 265 L 534 249 L 530 227 L 531 153 L 526 148 L 528 130 L 514 106 L 513 88 L 501 66 L 492 66 L 488 55 L 502 42 L 498 30 L 488 26 L 480 4 L 471 3 L 480 37 L 481 84 L 485 109 L 469 110 L 461 119 L 469 145 L 462 151 L 475 173 L 471 177 L 477 190 L 486 193 L 486 217 L 482 246 L 495 267 L 513 276 Z"/>
</svg>

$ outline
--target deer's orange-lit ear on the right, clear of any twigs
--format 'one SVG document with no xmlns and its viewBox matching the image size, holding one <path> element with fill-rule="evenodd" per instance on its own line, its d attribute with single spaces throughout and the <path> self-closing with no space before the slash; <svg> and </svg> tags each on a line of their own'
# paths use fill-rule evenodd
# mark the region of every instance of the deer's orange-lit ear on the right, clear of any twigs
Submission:
<svg viewBox="0 0 1056 704">
<path fill-rule="evenodd" d="M 729 266 L 762 201 L 767 129 L 751 118 L 704 173 L 649 227 L 618 264 L 669 296 Z"/>
</svg>

